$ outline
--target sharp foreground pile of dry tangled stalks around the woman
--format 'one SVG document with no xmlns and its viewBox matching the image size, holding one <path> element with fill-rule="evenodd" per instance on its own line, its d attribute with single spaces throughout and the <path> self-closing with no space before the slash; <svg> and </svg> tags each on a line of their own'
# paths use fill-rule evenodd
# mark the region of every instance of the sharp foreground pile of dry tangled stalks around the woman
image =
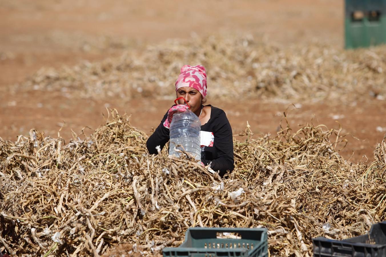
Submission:
<svg viewBox="0 0 386 257">
<path fill-rule="evenodd" d="M 130 245 L 127 254 L 159 256 L 205 226 L 267 227 L 271 256 L 310 256 L 312 237 L 360 235 L 386 218 L 386 143 L 354 164 L 337 152 L 340 131 L 284 126 L 252 139 L 247 127 L 224 179 L 166 150 L 150 156 L 148 136 L 115 111 L 68 144 L 36 130 L 1 140 L 0 251 L 99 256 Z"/>
</svg>

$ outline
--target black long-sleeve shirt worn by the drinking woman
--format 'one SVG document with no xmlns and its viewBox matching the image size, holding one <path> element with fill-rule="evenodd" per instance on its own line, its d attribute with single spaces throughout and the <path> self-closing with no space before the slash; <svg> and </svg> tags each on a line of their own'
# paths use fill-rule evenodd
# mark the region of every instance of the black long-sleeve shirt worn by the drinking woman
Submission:
<svg viewBox="0 0 386 257">
<path fill-rule="evenodd" d="M 211 163 L 210 167 L 223 176 L 234 168 L 232 128 L 223 110 L 208 106 L 211 107 L 210 119 L 201 126 L 201 161 L 205 165 Z M 156 146 L 162 150 L 169 141 L 169 129 L 163 125 L 167 117 L 168 112 L 146 142 L 150 154 L 157 154 Z"/>
</svg>

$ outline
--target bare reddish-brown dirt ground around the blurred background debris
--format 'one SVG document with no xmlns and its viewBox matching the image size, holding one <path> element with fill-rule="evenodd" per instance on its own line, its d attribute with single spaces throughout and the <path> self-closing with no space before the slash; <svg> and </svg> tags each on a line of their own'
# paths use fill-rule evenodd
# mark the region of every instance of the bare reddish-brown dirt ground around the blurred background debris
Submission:
<svg viewBox="0 0 386 257">
<path fill-rule="evenodd" d="M 342 47 L 343 1 L 3 1 L 0 31 L 0 137 L 15 140 L 19 134 L 28 135 L 31 128 L 56 136 L 64 121 L 61 135 L 69 140 L 71 130 L 80 133 L 83 127 L 96 128 L 103 123 L 106 107 L 132 114 L 132 124 L 150 133 L 170 101 L 83 100 L 32 89 L 10 93 L 9 88 L 42 66 L 58 68 L 83 60 L 102 60 L 124 51 L 142 51 L 146 44 L 169 38 L 190 38 L 191 33 L 242 32 L 283 46 L 323 41 Z M 153 106 L 145 115 L 144 103 Z M 210 99 L 208 103 L 225 110 L 234 134 L 242 132 L 247 121 L 255 134 L 275 133 L 279 114 L 293 109 L 259 99 Z M 340 122 L 342 132 L 352 135 L 346 137 L 348 145 L 342 155 L 346 159 L 352 156 L 351 161 L 366 160 L 362 156 L 372 159 L 376 142 L 383 139 L 385 105 L 382 100 L 356 105 L 296 103 L 300 108 L 290 112 L 289 120 L 294 130 L 307 122 L 329 128 L 338 128 Z M 90 132 L 85 128 L 86 134 Z"/>
</svg>

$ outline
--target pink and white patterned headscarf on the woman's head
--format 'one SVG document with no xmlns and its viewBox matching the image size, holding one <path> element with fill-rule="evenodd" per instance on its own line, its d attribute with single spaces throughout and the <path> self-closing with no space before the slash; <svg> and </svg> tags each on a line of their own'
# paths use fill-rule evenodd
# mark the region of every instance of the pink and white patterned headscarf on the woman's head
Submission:
<svg viewBox="0 0 386 257">
<path fill-rule="evenodd" d="M 182 66 L 181 73 L 176 81 L 176 91 L 184 86 L 198 90 L 205 98 L 207 95 L 207 71 L 205 71 L 204 66 Z"/>
</svg>

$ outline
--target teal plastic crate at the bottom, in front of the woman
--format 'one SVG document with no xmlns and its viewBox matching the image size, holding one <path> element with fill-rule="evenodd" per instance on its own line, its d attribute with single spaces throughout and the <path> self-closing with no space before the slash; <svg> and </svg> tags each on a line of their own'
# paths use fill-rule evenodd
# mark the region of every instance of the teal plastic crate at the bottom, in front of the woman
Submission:
<svg viewBox="0 0 386 257">
<path fill-rule="evenodd" d="M 236 233 L 241 238 L 218 238 Z M 166 247 L 164 257 L 265 257 L 268 256 L 266 228 L 188 228 L 180 247 Z"/>
</svg>

